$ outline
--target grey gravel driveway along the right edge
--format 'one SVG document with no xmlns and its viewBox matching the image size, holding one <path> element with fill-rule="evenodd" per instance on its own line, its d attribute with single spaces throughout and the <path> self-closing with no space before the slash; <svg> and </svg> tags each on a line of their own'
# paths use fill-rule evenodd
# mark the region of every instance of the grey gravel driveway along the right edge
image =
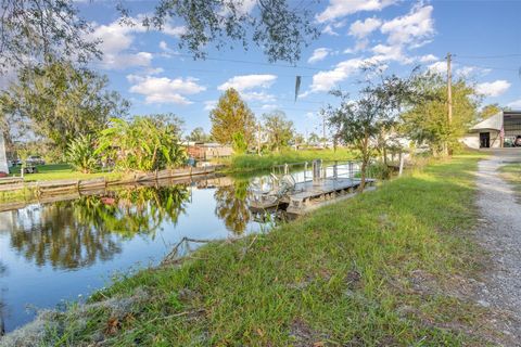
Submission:
<svg viewBox="0 0 521 347">
<path fill-rule="evenodd" d="M 479 163 L 478 237 L 491 253 L 492 264 L 478 299 L 505 313 L 500 327 L 521 346 L 521 205 L 512 188 L 499 177 L 498 168 L 506 162 L 521 162 L 521 150 L 497 150 Z"/>
</svg>

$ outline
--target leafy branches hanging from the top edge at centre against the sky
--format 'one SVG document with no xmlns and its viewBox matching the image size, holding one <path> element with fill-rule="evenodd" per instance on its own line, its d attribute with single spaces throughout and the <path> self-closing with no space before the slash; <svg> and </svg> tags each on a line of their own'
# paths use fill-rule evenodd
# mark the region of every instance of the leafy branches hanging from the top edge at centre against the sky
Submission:
<svg viewBox="0 0 521 347">
<path fill-rule="evenodd" d="M 128 17 L 126 9 L 119 8 Z M 204 59 L 208 44 L 244 49 L 253 41 L 270 62 L 296 62 L 303 46 L 318 37 L 313 13 L 289 0 L 161 0 L 143 24 L 162 29 L 169 21 L 182 23 L 179 47 L 195 59 Z"/>
</svg>

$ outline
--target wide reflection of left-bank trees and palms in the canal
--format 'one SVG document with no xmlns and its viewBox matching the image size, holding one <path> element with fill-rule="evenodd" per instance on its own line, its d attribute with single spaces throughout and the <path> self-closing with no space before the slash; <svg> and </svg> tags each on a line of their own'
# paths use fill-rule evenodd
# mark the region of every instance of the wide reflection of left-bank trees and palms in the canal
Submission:
<svg viewBox="0 0 521 347">
<path fill-rule="evenodd" d="M 142 187 L 13 211 L 11 245 L 38 266 L 88 267 L 120 253 L 122 239 L 153 237 L 163 221 L 176 223 L 188 197 L 183 185 Z"/>
</svg>

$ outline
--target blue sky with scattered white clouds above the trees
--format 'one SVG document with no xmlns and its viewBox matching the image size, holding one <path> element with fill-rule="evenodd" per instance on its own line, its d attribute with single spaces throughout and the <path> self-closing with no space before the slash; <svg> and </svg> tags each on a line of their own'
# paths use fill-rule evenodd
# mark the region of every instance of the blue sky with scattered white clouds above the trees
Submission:
<svg viewBox="0 0 521 347">
<path fill-rule="evenodd" d="M 454 78 L 465 77 L 483 94 L 483 104 L 521 110 L 521 1 L 288 0 L 314 12 L 321 35 L 304 48 L 296 66 L 268 64 L 252 43 L 244 51 L 208 47 L 194 61 L 178 48 L 185 28 L 171 21 L 162 31 L 120 26 L 116 2 L 79 2 L 80 15 L 103 42 L 103 60 L 91 67 L 110 78 L 110 88 L 131 102 L 131 115 L 174 113 L 185 131 L 211 129 L 208 113 L 219 95 L 236 88 L 257 117 L 280 110 L 298 132 L 320 133 L 319 111 L 338 100 L 340 88 L 356 94 L 359 67 L 373 61 L 386 73 L 406 76 L 417 66 L 446 74 L 453 54 Z M 155 1 L 127 1 L 130 15 L 151 13 Z M 255 0 L 243 1 L 255 13 Z M 294 101 L 295 76 L 302 76 Z"/>
</svg>

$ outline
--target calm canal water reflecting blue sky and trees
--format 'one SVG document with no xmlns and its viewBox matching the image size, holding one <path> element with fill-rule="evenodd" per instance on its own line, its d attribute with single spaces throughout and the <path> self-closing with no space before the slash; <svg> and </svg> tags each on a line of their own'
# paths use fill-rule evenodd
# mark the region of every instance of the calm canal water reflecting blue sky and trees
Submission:
<svg viewBox="0 0 521 347">
<path fill-rule="evenodd" d="M 0 213 L 0 314 L 5 331 L 157 265 L 183 237 L 264 232 L 274 218 L 250 213 L 249 180 L 118 189 Z M 268 220 L 268 221 L 266 221 Z M 180 255 L 198 247 L 183 243 Z"/>
</svg>

